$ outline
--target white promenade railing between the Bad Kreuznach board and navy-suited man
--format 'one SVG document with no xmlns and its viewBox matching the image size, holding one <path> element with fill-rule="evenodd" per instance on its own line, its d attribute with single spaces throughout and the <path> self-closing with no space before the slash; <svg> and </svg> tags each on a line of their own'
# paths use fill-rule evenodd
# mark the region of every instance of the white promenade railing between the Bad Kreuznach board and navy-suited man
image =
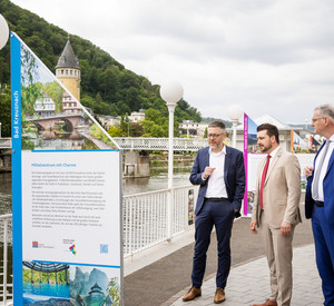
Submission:
<svg viewBox="0 0 334 306">
<path fill-rule="evenodd" d="M 173 204 L 168 198 L 173 195 Z M 189 228 L 198 186 L 124 196 L 124 256 L 170 239 Z"/>
</svg>

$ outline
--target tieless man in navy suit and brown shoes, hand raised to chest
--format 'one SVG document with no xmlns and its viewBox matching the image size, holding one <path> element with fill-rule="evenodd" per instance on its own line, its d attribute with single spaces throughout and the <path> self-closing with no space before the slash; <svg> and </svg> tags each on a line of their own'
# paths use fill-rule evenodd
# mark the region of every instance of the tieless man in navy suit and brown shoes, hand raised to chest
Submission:
<svg viewBox="0 0 334 306">
<path fill-rule="evenodd" d="M 202 295 L 200 286 L 206 266 L 206 253 L 213 226 L 218 244 L 218 270 L 214 303 L 225 300 L 225 286 L 230 269 L 230 235 L 235 217 L 245 193 L 245 167 L 243 152 L 224 145 L 224 122 L 208 126 L 209 146 L 198 150 L 190 174 L 190 181 L 200 185 L 195 209 L 195 251 L 193 260 L 193 286 L 183 300 Z"/>
</svg>

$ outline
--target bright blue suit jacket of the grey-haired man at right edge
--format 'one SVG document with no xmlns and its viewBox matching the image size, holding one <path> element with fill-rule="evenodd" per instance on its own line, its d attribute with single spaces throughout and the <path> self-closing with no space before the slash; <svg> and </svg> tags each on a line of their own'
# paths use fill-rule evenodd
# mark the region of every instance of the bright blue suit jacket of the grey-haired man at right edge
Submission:
<svg viewBox="0 0 334 306">
<path fill-rule="evenodd" d="M 323 146 L 320 148 L 320 150 L 317 151 L 314 158 L 314 167 L 315 167 L 315 160 L 318 156 L 318 152 L 322 150 Z M 312 210 L 314 205 L 314 199 L 312 198 L 312 188 L 311 188 L 313 181 L 313 175 L 314 171 L 312 176 L 307 178 L 307 187 L 306 187 L 306 195 L 305 195 L 305 216 L 307 219 L 312 217 Z M 325 216 L 327 216 L 327 223 L 334 226 L 334 150 L 328 161 L 327 171 L 323 181 L 323 188 L 324 188 Z"/>
</svg>

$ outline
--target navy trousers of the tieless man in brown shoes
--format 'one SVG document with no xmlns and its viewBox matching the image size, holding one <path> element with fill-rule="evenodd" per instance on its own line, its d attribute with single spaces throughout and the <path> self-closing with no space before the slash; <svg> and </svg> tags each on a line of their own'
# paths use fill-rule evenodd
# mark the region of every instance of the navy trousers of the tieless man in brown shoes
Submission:
<svg viewBox="0 0 334 306">
<path fill-rule="evenodd" d="M 205 200 L 195 219 L 195 251 L 193 261 L 193 286 L 199 288 L 206 267 L 206 253 L 210 244 L 210 234 L 215 225 L 218 245 L 217 287 L 225 288 L 230 269 L 230 234 L 234 208 L 227 199 Z"/>
</svg>

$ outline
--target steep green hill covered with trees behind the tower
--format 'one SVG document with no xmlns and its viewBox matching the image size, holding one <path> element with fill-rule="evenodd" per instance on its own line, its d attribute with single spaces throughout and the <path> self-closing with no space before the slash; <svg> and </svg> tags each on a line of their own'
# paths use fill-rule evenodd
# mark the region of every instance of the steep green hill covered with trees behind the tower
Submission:
<svg viewBox="0 0 334 306">
<path fill-rule="evenodd" d="M 6 18 L 10 30 L 16 32 L 55 72 L 68 33 L 9 0 L 0 0 L 0 13 Z M 84 106 L 91 108 L 96 113 L 111 116 L 125 116 L 144 109 L 147 115 L 144 134 L 146 136 L 168 135 L 168 110 L 159 96 L 159 85 L 153 85 L 147 78 L 126 69 L 109 53 L 86 39 L 70 34 L 70 42 L 81 68 L 81 103 Z M 9 62 L 8 42 L 0 51 L 0 85 L 9 86 L 10 83 Z M 10 115 L 2 111 L 8 109 L 6 105 L 9 102 L 9 95 L 2 95 L 0 99 L 3 136 L 9 136 L 8 118 Z M 187 101 L 180 100 L 175 110 L 175 125 L 177 126 L 181 120 L 200 121 L 202 116 Z"/>
</svg>

